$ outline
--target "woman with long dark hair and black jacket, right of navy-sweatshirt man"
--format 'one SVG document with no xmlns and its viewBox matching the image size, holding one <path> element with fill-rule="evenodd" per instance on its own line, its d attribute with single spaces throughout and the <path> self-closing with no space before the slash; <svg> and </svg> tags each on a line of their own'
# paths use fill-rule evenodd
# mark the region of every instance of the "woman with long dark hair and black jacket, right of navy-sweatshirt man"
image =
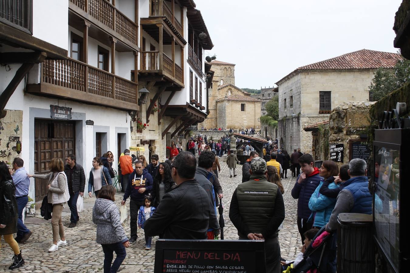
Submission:
<svg viewBox="0 0 410 273">
<path fill-rule="evenodd" d="M 157 208 L 162 200 L 162 197 L 171 190 L 171 186 L 174 185 L 174 181 L 171 177 L 171 167 L 168 163 L 159 163 L 157 175 L 154 178 L 153 190 L 151 196 L 154 200 L 154 207 Z"/>
</svg>

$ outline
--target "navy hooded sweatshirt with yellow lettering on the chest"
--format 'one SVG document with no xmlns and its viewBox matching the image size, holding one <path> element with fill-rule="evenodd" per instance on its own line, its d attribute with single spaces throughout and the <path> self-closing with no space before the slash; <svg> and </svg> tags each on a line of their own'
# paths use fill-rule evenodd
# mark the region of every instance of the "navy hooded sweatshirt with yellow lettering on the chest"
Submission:
<svg viewBox="0 0 410 273">
<path fill-rule="evenodd" d="M 142 181 L 141 181 L 142 177 Z M 145 192 L 139 193 L 138 190 L 145 188 Z M 125 190 L 123 200 L 131 197 L 133 201 L 141 203 L 144 197 L 148 195 L 153 189 L 153 177 L 148 173 L 147 169 L 142 169 L 142 175 L 137 174 L 134 170 L 128 178 L 128 187 Z"/>
</svg>

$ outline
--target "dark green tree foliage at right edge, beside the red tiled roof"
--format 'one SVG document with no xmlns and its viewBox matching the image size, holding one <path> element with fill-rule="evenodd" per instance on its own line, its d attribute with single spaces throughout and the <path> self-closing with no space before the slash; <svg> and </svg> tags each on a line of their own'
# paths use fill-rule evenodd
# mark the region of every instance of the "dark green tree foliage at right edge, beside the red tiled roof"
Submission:
<svg viewBox="0 0 410 273">
<path fill-rule="evenodd" d="M 397 61 L 393 71 L 379 68 L 374 73 L 369 86 L 369 100 L 378 101 L 408 82 L 410 82 L 410 61 L 407 59 Z"/>
</svg>

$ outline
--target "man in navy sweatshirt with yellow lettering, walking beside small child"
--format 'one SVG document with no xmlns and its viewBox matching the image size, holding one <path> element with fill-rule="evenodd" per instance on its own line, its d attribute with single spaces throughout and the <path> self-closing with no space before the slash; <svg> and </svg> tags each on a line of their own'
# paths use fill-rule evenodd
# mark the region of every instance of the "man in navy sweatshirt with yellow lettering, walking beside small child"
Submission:
<svg viewBox="0 0 410 273">
<path fill-rule="evenodd" d="M 121 205 L 125 205 L 125 200 L 130 197 L 130 228 L 131 239 L 130 243 L 137 240 L 137 220 L 138 210 L 143 205 L 144 197 L 148 195 L 153 188 L 153 178 L 148 171 L 142 167 L 142 161 L 135 162 L 135 169 L 128 178 L 127 190 L 121 201 Z"/>
</svg>

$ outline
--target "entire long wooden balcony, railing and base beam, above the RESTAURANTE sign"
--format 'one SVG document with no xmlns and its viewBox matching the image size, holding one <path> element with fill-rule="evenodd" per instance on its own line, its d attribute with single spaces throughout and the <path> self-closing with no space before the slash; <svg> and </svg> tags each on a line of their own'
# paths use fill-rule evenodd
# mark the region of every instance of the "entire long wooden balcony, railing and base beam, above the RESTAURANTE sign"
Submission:
<svg viewBox="0 0 410 273">
<path fill-rule="evenodd" d="M 40 83 L 27 85 L 27 92 L 125 110 L 138 107 L 137 83 L 71 58 L 45 60 Z"/>
</svg>

